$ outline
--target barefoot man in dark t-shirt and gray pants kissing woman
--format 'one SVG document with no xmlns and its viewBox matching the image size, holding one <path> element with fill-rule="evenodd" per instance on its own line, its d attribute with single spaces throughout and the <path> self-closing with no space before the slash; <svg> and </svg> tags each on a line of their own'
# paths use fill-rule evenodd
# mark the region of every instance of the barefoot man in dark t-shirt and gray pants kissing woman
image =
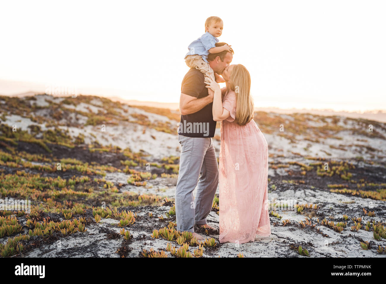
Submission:
<svg viewBox="0 0 386 284">
<path fill-rule="evenodd" d="M 217 42 L 216 46 L 225 44 Z M 210 67 L 221 75 L 232 62 L 233 53 L 231 49 L 209 54 Z M 212 141 L 217 123 L 212 116 L 213 94 L 208 94 L 204 78 L 203 73 L 191 68 L 181 84 L 181 121 L 178 128 L 181 156 L 175 196 L 177 230 L 191 232 L 198 240 L 204 238 L 194 232 L 196 224 L 203 228 L 212 228 L 207 224 L 207 216 L 212 210 L 219 175 Z M 193 190 L 197 184 L 193 200 Z"/>
</svg>

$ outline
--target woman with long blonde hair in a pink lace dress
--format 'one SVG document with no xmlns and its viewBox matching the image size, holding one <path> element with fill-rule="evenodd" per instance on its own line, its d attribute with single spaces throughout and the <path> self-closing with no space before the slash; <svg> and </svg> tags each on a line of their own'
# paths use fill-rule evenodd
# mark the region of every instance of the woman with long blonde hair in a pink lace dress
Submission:
<svg viewBox="0 0 386 284">
<path fill-rule="evenodd" d="M 206 82 L 213 94 L 213 120 L 221 121 L 220 243 L 254 241 L 271 234 L 269 223 L 268 147 L 253 120 L 251 76 L 241 64 L 223 73 L 226 88 Z M 222 94 L 224 95 L 222 100 Z"/>
</svg>

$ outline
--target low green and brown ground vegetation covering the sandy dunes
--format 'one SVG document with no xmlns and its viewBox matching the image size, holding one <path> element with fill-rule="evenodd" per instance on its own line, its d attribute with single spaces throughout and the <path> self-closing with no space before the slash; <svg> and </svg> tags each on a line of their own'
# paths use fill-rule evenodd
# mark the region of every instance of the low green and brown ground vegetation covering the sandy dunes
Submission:
<svg viewBox="0 0 386 284">
<path fill-rule="evenodd" d="M 89 108 L 85 112 L 64 106 L 81 103 L 92 106 L 91 102 L 95 99 L 103 105 L 95 106 L 105 111 L 95 113 Z M 31 104 L 31 100 L 36 101 L 36 97 L 20 99 L 0 96 L 0 101 L 4 101 L 0 113 L 0 195 L 2 199 L 30 199 L 32 203 L 30 213 L 0 210 L 1 257 L 23 257 L 32 252 L 45 256 L 52 250 L 57 250 L 55 255 L 62 257 L 103 254 L 119 257 L 216 257 L 220 252 L 233 257 L 244 256 L 245 251 L 241 247 L 229 249 L 225 247 L 226 244 L 220 244 L 218 230 L 212 232 L 195 228 L 196 232 L 207 236 L 203 242 L 195 240 L 189 233 L 178 233 L 175 230 L 173 198 L 139 194 L 135 190 L 122 191 L 127 185 L 142 188 L 155 184 L 155 180 L 157 183 L 163 183 L 166 179 L 176 180 L 178 156 L 154 159 L 129 148 L 103 146 L 96 139 L 86 144 L 83 134 L 73 137 L 59 127 L 83 128 L 86 125 L 133 122 L 174 135 L 176 127 L 171 122 L 154 121 L 141 113 L 128 115 L 127 108 L 121 103 L 94 96 L 69 97 L 58 103 L 46 101 L 46 106 Z M 179 122 L 178 112 L 144 106 L 136 108 Z M 85 123 L 71 119 L 71 113 L 85 117 Z M 17 131 L 13 131 L 11 125 L 3 123 L 8 115 L 29 118 L 32 122 L 44 125 L 44 128 L 29 125 L 29 129 L 17 128 Z M 311 194 L 319 190 L 355 196 L 357 200 L 386 201 L 385 153 L 366 145 L 366 141 L 371 139 L 385 141 L 384 123 L 345 118 L 344 123 L 353 126 L 342 127 L 338 125 L 337 117 L 313 115 L 311 118 L 298 113 L 289 117 L 292 117 L 292 122 L 286 123 L 286 132 L 280 133 L 277 131 L 283 123 L 280 115 L 255 113 L 255 120 L 264 134 L 283 136 L 293 144 L 300 141 L 298 135 L 305 136 L 303 140 L 310 143 L 319 143 L 323 139 L 339 140 L 342 139 L 339 134 L 343 130 L 349 135 L 362 135 L 363 138 L 350 145 L 331 147 L 357 151 L 355 159 L 330 158 L 328 152 L 324 157 L 296 152 L 289 156 L 287 153 L 270 153 L 269 168 L 276 174 L 269 177 L 269 193 L 278 193 L 280 196 L 288 190 Z M 310 122 L 323 124 L 312 126 Z M 366 131 L 369 124 L 374 127 L 372 132 Z M 217 125 L 220 126 L 219 123 Z M 153 138 L 156 140 L 156 137 Z M 371 160 L 365 160 L 363 154 L 368 154 Z M 277 174 L 279 170 L 283 170 L 285 175 Z M 104 177 L 107 172 L 125 173 L 127 182 L 106 181 Z M 320 226 L 340 234 L 351 231 L 344 238 L 352 239 L 359 250 L 385 255 L 386 206 L 384 202 L 376 204 L 375 207 L 365 208 L 360 204 L 349 206 L 349 203 L 341 203 L 332 211 L 331 203 L 326 200 L 317 204 L 298 203 L 296 215 L 303 215 L 305 219 L 289 220 L 283 218 L 280 211 L 270 211 L 271 230 L 274 233 L 275 228 L 284 227 L 313 232 L 326 239 L 330 237 L 320 230 Z M 218 214 L 219 206 L 217 195 L 213 201 L 214 216 Z M 218 219 L 213 219 L 213 223 L 218 227 Z M 364 239 L 354 234 L 362 230 L 371 232 L 372 237 Z M 95 240 L 92 239 L 94 237 Z M 58 245 L 73 239 L 78 243 L 87 243 L 63 249 Z M 164 242 L 157 242 L 159 240 Z M 315 249 L 312 242 L 281 237 L 279 240 L 282 247 L 276 256 L 306 257 L 312 255 Z M 101 252 L 103 242 L 109 242 L 111 247 L 107 246 Z M 339 242 L 343 243 L 337 241 L 336 244 L 339 245 Z"/>
</svg>

